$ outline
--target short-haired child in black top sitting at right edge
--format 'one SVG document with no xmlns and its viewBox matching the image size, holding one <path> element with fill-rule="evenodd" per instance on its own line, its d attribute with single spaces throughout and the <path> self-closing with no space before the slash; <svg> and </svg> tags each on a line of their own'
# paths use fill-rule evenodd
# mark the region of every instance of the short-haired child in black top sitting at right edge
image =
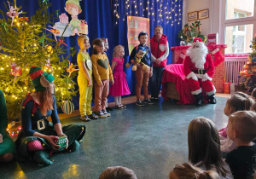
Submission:
<svg viewBox="0 0 256 179">
<path fill-rule="evenodd" d="M 234 178 L 252 178 L 256 169 L 256 113 L 240 111 L 230 115 L 228 136 L 236 149 L 227 154 L 226 162 Z"/>
</svg>

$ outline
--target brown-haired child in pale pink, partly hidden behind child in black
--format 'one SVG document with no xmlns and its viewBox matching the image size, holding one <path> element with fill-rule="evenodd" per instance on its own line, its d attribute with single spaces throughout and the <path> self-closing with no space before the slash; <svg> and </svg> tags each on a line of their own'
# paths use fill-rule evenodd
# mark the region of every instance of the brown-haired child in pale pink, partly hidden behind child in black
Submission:
<svg viewBox="0 0 256 179">
<path fill-rule="evenodd" d="M 224 107 L 224 114 L 226 116 L 230 116 L 232 113 L 235 113 L 237 111 L 249 110 L 254 102 L 255 101 L 253 100 L 253 98 L 249 95 L 242 92 L 236 92 L 226 102 L 226 106 Z M 227 136 L 227 127 L 219 130 L 218 132 L 220 137 L 221 152 L 229 153 L 236 148 L 236 144 L 234 143 L 234 141 L 230 140 L 230 138 Z"/>
</svg>

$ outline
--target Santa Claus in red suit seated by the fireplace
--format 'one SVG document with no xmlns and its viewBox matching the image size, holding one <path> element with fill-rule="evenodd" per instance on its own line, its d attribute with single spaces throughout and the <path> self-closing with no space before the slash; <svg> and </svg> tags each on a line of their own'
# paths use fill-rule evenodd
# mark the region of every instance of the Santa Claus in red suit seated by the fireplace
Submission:
<svg viewBox="0 0 256 179">
<path fill-rule="evenodd" d="M 202 90 L 208 95 L 208 102 L 216 104 L 215 87 L 212 76 L 215 72 L 211 55 L 201 38 L 195 38 L 183 61 L 183 70 L 188 79 L 189 88 L 196 98 L 196 105 L 203 102 Z"/>
</svg>

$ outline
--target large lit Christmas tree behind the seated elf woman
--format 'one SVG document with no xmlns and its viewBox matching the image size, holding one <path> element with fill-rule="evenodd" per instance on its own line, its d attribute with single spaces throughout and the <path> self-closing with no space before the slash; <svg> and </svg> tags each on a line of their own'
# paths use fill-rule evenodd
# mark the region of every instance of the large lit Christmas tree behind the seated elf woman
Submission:
<svg viewBox="0 0 256 179">
<path fill-rule="evenodd" d="M 68 58 L 75 49 L 64 50 L 63 38 L 52 39 L 56 29 L 49 28 L 58 12 L 49 14 L 51 5 L 44 0 L 32 17 L 26 17 L 15 3 L 4 3 L 7 12 L 0 10 L 0 89 L 5 93 L 9 119 L 20 118 L 20 102 L 33 92 L 28 72 L 30 66 L 40 66 L 55 76 L 55 97 L 58 106 L 75 95 L 72 80 L 73 64 Z M 22 12 L 22 13 L 21 13 Z M 66 58 L 63 55 L 66 55 Z"/>
</svg>

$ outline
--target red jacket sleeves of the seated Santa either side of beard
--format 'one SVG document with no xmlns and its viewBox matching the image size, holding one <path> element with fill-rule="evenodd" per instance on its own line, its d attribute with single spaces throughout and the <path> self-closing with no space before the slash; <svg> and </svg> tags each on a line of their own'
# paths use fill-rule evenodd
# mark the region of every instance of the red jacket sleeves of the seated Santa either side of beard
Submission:
<svg viewBox="0 0 256 179">
<path fill-rule="evenodd" d="M 198 70 L 198 68 L 195 67 L 195 63 L 193 63 L 190 59 L 189 56 L 186 56 L 184 61 L 183 61 L 183 70 L 185 73 L 185 76 L 187 77 L 189 75 L 190 72 L 194 71 L 194 70 Z M 204 70 L 207 70 L 207 74 L 210 78 L 212 78 L 214 72 L 215 72 L 215 68 L 214 68 L 214 64 L 212 61 L 212 56 L 207 54 L 206 56 L 206 62 L 204 64 Z"/>
</svg>

